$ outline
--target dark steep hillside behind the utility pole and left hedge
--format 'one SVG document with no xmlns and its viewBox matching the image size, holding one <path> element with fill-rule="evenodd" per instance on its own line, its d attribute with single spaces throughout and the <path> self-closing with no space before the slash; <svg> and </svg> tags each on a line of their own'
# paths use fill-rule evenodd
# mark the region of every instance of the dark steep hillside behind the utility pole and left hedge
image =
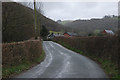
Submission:
<svg viewBox="0 0 120 80">
<path fill-rule="evenodd" d="M 45 25 L 48 30 L 60 31 L 63 27 L 40 13 L 37 13 L 37 19 L 39 28 Z M 19 3 L 2 3 L 2 24 L 3 42 L 27 40 L 35 35 L 34 12 Z"/>
</svg>

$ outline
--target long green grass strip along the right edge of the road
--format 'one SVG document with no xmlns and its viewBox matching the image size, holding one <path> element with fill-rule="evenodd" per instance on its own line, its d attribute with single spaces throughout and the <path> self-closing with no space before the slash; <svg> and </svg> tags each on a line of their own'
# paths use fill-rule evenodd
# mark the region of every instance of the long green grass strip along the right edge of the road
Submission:
<svg viewBox="0 0 120 80">
<path fill-rule="evenodd" d="M 56 42 L 56 41 L 55 41 Z M 87 56 L 89 58 L 91 58 L 92 60 L 98 62 L 100 64 L 100 66 L 104 69 L 104 71 L 106 72 L 106 74 L 110 77 L 110 78 L 113 78 L 113 80 L 120 80 L 120 74 L 118 74 L 118 66 L 115 65 L 114 63 L 112 63 L 111 61 L 109 60 L 105 60 L 105 59 L 101 59 L 101 58 L 98 58 L 96 56 L 91 56 L 91 55 L 86 55 L 84 54 L 83 51 L 81 50 L 78 50 L 78 49 L 75 49 L 75 48 L 72 48 L 71 46 L 69 46 L 68 44 L 65 44 L 63 42 L 57 42 L 61 45 L 63 45 L 64 47 L 72 50 L 72 51 L 75 51 L 77 53 L 80 53 L 84 56 Z"/>
</svg>

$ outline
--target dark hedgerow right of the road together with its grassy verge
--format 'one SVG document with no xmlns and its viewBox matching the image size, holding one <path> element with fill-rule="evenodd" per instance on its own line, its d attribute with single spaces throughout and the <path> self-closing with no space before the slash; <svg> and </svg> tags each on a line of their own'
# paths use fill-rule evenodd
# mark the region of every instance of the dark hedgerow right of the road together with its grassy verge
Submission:
<svg viewBox="0 0 120 80">
<path fill-rule="evenodd" d="M 100 63 L 111 78 L 120 78 L 118 37 L 55 37 L 57 43 Z"/>
</svg>

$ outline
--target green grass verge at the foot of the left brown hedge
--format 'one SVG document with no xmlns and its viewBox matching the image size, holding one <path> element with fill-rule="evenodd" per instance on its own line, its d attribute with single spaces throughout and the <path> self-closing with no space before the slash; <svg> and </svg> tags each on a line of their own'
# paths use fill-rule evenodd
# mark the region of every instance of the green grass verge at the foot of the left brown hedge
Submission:
<svg viewBox="0 0 120 80">
<path fill-rule="evenodd" d="M 43 51 L 40 58 L 36 58 L 33 62 L 25 61 L 23 64 L 20 64 L 20 65 L 2 68 L 2 77 L 3 78 L 11 77 L 12 75 L 16 75 L 21 73 L 22 71 L 28 70 L 33 65 L 36 65 L 41 61 L 43 61 L 44 58 L 45 58 L 45 53 Z"/>
</svg>

